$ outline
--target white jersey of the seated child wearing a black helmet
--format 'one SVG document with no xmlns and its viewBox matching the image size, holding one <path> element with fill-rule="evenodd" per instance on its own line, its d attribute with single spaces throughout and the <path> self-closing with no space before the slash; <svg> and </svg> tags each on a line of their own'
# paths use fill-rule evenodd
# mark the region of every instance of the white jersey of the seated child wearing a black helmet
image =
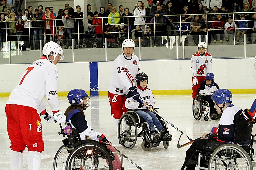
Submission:
<svg viewBox="0 0 256 170">
<path fill-rule="evenodd" d="M 147 87 L 145 87 L 145 89 L 142 89 L 141 86 L 136 85 L 137 87 L 137 91 L 140 93 L 141 96 L 141 100 L 143 100 L 144 102 L 147 102 L 148 105 L 152 105 L 152 107 L 155 107 L 155 98 L 153 96 L 153 93 L 150 89 L 148 89 Z M 129 92 L 127 94 L 127 99 L 125 101 L 125 107 L 128 109 L 146 109 L 146 106 L 142 106 L 140 105 L 139 102 L 137 102 L 136 100 L 134 100 L 132 98 L 132 94 L 131 92 Z"/>
</svg>

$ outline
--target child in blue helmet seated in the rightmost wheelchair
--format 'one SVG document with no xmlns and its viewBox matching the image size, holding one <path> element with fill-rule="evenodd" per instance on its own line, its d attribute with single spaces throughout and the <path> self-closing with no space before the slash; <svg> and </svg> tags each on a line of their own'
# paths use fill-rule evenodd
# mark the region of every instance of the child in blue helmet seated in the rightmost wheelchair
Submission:
<svg viewBox="0 0 256 170">
<path fill-rule="evenodd" d="M 250 134 L 248 134 L 249 126 L 242 123 L 242 119 L 244 119 L 243 110 L 240 107 L 236 107 L 231 104 L 232 93 L 228 89 L 218 89 L 215 93 L 213 93 L 211 99 L 214 102 L 214 108 L 217 110 L 218 114 L 222 114 L 222 117 L 219 120 L 219 126 L 213 127 L 210 131 L 210 134 L 218 135 L 218 137 L 213 137 L 211 141 L 217 141 L 220 146 L 222 143 L 242 143 L 250 140 L 251 130 L 249 132 Z M 195 169 L 196 164 L 193 164 L 191 161 L 196 161 L 198 158 L 198 152 L 195 153 L 195 151 L 200 151 L 201 153 L 203 152 L 203 146 L 206 144 L 206 142 L 208 142 L 208 137 L 206 137 L 207 134 L 208 133 L 204 133 L 201 139 L 196 139 L 186 151 L 185 161 L 181 167 L 181 170 L 183 170 L 185 167 L 187 167 L 186 170 Z M 214 146 L 211 145 L 211 149 L 212 147 Z M 213 148 L 213 150 L 216 148 Z M 206 148 L 204 148 L 204 150 L 205 149 Z M 208 163 L 206 160 L 201 159 L 200 166 L 208 168 Z"/>
</svg>

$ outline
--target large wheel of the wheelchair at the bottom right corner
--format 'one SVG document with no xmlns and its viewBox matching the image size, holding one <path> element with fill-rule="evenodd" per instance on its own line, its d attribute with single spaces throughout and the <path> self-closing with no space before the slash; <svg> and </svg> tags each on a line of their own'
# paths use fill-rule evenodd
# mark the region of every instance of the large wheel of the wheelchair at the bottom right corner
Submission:
<svg viewBox="0 0 256 170">
<path fill-rule="evenodd" d="M 209 160 L 209 170 L 253 170 L 248 153 L 235 144 L 224 144 L 215 149 Z"/>
</svg>

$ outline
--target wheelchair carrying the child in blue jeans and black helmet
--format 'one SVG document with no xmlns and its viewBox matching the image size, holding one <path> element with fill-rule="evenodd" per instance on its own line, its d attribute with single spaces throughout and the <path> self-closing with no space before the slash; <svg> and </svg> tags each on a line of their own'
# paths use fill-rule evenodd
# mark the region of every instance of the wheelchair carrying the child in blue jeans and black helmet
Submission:
<svg viewBox="0 0 256 170">
<path fill-rule="evenodd" d="M 159 108 L 154 108 L 154 111 Z M 142 109 L 137 109 L 142 110 Z M 137 137 L 142 137 L 141 148 L 144 151 L 150 151 L 152 147 L 159 146 L 160 142 L 163 142 L 163 147 L 167 149 L 169 147 L 169 139 L 163 139 L 165 133 L 162 133 L 159 139 L 152 139 L 150 133 L 150 127 L 148 122 L 144 118 L 139 117 L 136 113 L 137 110 L 127 110 L 126 114 L 122 115 L 118 123 L 118 139 L 125 149 L 132 149 L 137 141 Z M 156 114 L 158 120 L 162 124 L 163 128 L 168 132 L 167 123 Z"/>
</svg>

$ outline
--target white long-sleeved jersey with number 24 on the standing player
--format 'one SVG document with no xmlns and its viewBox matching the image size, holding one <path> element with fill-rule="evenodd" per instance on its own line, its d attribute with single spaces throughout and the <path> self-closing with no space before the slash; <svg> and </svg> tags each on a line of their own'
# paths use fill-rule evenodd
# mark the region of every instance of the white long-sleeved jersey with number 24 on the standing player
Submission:
<svg viewBox="0 0 256 170">
<path fill-rule="evenodd" d="M 118 95 L 127 94 L 135 81 L 137 73 L 140 73 L 138 57 L 136 55 L 127 57 L 122 53 L 114 61 L 108 91 Z"/>
</svg>

